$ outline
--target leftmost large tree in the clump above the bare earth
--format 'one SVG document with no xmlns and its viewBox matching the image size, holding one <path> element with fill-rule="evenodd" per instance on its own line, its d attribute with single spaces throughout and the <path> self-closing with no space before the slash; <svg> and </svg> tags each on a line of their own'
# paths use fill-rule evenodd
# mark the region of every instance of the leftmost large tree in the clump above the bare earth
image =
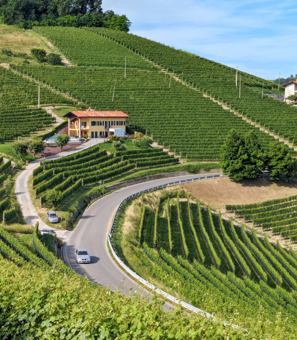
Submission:
<svg viewBox="0 0 297 340">
<path fill-rule="evenodd" d="M 247 158 L 244 140 L 235 129 L 232 129 L 221 150 L 220 164 L 223 173 L 235 181 L 242 180 L 245 177 Z"/>
</svg>

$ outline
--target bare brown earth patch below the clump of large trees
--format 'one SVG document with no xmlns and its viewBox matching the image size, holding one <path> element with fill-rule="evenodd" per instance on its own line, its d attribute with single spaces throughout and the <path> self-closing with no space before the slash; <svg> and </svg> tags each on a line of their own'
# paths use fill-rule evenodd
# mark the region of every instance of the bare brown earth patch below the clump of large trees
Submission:
<svg viewBox="0 0 297 340">
<path fill-rule="evenodd" d="M 228 177 L 196 181 L 183 187 L 205 205 L 225 211 L 225 204 L 249 204 L 297 194 L 297 181 L 273 182 L 268 179 L 235 182 Z"/>
</svg>

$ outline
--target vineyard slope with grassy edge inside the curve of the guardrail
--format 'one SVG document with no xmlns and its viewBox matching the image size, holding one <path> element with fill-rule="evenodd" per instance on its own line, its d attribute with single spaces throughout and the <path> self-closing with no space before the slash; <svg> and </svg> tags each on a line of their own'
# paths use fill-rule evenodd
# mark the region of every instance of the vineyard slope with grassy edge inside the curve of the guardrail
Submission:
<svg viewBox="0 0 297 340">
<path fill-rule="evenodd" d="M 226 318 L 238 311 L 237 322 L 254 318 L 261 305 L 265 318 L 274 320 L 281 312 L 296 324 L 297 254 L 234 226 L 221 213 L 212 214 L 210 207 L 191 201 L 185 191 L 176 192 L 162 190 L 155 198 L 154 193 L 144 194 L 140 222 L 134 226 L 152 262 L 145 261 L 140 250 L 135 254 L 152 276 L 198 308 Z M 152 209 L 152 202 L 157 209 Z M 118 238 L 117 228 L 115 249 L 130 258 L 121 249 L 123 236 Z M 130 268 L 137 265 L 128 258 Z"/>
</svg>

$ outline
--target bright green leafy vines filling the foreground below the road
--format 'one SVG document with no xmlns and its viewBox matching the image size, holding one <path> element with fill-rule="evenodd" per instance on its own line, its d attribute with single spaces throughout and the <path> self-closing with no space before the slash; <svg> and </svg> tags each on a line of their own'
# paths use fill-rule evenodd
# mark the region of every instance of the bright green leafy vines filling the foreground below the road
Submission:
<svg viewBox="0 0 297 340">
<path fill-rule="evenodd" d="M 37 253 L 0 229 L 1 339 L 288 339 L 279 314 L 276 323 L 255 321 L 233 330 L 182 308 L 164 312 L 163 301 L 122 295 L 96 286 L 54 257 L 34 232 Z M 5 237 L 6 235 L 6 237 Z M 5 241 L 5 243 L 3 241 Z M 17 253 L 13 250 L 15 249 Z M 27 254 L 27 256 L 25 256 Z M 24 257 L 27 261 L 24 260 Z M 33 262 L 35 265 L 33 265 Z M 38 278 L 38 279 L 36 279 Z M 236 321 L 234 316 L 233 322 Z M 290 338 L 294 339 L 294 336 Z"/>
</svg>

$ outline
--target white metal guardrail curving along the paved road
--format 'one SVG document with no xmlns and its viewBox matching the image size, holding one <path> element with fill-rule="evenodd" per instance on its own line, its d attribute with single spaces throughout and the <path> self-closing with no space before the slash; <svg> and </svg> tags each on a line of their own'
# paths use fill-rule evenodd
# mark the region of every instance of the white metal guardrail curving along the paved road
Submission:
<svg viewBox="0 0 297 340">
<path fill-rule="evenodd" d="M 137 193 L 135 193 L 133 195 L 128 196 L 118 206 L 116 214 L 113 217 L 113 221 L 112 221 L 112 224 L 111 224 L 111 227 L 110 227 L 110 231 L 109 231 L 109 235 L 108 235 L 108 243 L 109 243 L 112 255 L 119 262 L 119 265 L 123 269 L 125 269 L 125 271 L 127 273 L 129 273 L 132 277 L 134 277 L 137 280 L 137 282 L 140 282 L 141 284 L 143 284 L 147 288 L 152 289 L 155 293 L 163 296 L 165 299 L 170 300 L 173 303 L 180 304 L 182 307 L 186 308 L 187 310 L 190 310 L 190 311 L 192 311 L 194 313 L 203 314 L 205 317 L 212 318 L 213 321 L 219 321 L 219 322 L 220 322 L 220 320 L 216 320 L 213 314 L 210 314 L 210 313 L 208 313 L 208 312 L 206 312 L 206 311 L 204 311 L 202 309 L 199 309 L 197 307 L 194 307 L 194 306 L 192 306 L 192 305 L 190 305 L 190 304 L 188 304 L 188 303 L 186 303 L 184 301 L 178 300 L 176 297 L 174 297 L 174 296 L 164 292 L 163 290 L 157 288 L 156 286 L 154 286 L 153 284 L 147 282 L 144 278 L 142 278 L 141 276 L 139 276 L 135 272 L 133 272 L 129 267 L 127 267 L 125 265 L 125 263 L 116 254 L 115 249 L 113 248 L 111 237 L 112 237 L 113 229 L 115 227 L 115 223 L 116 223 L 119 211 L 120 211 L 123 203 L 126 202 L 129 198 L 132 198 L 132 197 L 134 197 L 136 195 L 140 195 L 143 192 L 148 192 L 148 191 L 151 191 L 151 190 L 158 190 L 158 189 L 161 189 L 163 187 L 167 187 L 167 186 L 171 186 L 171 185 L 178 185 L 178 184 L 181 184 L 181 183 L 189 183 L 189 182 L 199 181 L 199 180 L 203 180 L 203 179 L 207 180 L 207 179 L 212 179 L 212 178 L 215 178 L 215 177 L 222 177 L 222 176 L 223 176 L 223 174 L 220 174 L 220 175 L 211 175 L 211 176 L 197 177 L 197 178 L 190 179 L 190 180 L 182 180 L 182 181 L 177 181 L 177 182 L 170 182 L 170 183 L 163 184 L 163 185 L 160 185 L 160 186 L 156 186 L 156 187 L 153 187 L 153 188 L 150 188 L 150 189 L 142 190 L 142 191 L 139 191 L 139 192 L 137 192 Z M 223 321 L 221 321 L 221 322 L 223 322 Z M 224 321 L 223 324 L 226 326 L 229 323 Z M 232 324 L 232 328 L 239 328 L 239 326 Z"/>
</svg>

